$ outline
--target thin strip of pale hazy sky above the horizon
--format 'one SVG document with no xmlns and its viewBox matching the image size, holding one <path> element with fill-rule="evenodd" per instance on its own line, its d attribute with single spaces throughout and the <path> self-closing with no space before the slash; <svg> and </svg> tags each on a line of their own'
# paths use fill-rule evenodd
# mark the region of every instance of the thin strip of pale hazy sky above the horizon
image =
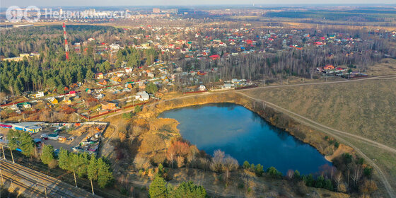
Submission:
<svg viewBox="0 0 396 198">
<path fill-rule="evenodd" d="M 395 4 L 395 0 L 0 0 L 2 8 L 8 6 L 192 6 L 235 4 Z"/>
</svg>

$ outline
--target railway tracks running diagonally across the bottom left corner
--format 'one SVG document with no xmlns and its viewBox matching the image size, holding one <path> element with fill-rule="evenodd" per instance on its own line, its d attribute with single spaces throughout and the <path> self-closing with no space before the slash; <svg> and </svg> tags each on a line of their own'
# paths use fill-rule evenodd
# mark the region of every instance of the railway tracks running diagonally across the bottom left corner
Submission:
<svg viewBox="0 0 396 198">
<path fill-rule="evenodd" d="M 47 197 L 99 197 L 3 158 L 0 158 L 0 169 L 6 183 L 11 185 L 12 180 L 13 189 L 19 188 L 27 197 L 45 197 L 45 190 Z"/>
</svg>

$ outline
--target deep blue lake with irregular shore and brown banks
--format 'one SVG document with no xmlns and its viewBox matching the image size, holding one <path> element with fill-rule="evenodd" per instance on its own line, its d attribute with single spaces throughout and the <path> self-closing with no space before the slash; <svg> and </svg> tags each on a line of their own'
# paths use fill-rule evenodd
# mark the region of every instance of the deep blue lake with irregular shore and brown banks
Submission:
<svg viewBox="0 0 396 198">
<path fill-rule="evenodd" d="M 213 156 L 220 149 L 240 165 L 244 161 L 274 166 L 286 174 L 318 173 L 332 166 L 313 146 L 299 141 L 284 130 L 271 126 L 257 113 L 232 103 L 212 103 L 168 110 L 159 117 L 180 122 L 177 129 L 184 139 Z"/>
</svg>

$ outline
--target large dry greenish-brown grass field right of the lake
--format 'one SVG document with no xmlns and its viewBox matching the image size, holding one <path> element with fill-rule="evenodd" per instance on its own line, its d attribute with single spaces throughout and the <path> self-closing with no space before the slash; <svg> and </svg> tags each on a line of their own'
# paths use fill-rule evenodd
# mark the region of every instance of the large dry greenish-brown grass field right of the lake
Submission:
<svg viewBox="0 0 396 198">
<path fill-rule="evenodd" d="M 373 71 L 379 75 L 383 69 L 390 68 L 386 64 L 388 63 L 382 63 L 382 67 Z M 395 78 L 264 88 L 244 92 L 333 129 L 396 148 Z M 392 187 L 396 188 L 395 153 L 384 151 L 359 139 L 344 139 L 371 158 L 387 175 Z M 383 188 L 380 189 L 383 191 Z"/>
</svg>

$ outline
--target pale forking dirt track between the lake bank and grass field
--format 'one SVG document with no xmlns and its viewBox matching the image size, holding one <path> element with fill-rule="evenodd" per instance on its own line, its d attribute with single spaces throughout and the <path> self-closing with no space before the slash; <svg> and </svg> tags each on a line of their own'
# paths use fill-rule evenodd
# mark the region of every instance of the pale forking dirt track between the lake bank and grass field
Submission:
<svg viewBox="0 0 396 198">
<path fill-rule="evenodd" d="M 387 190 L 388 194 L 390 197 L 396 197 L 396 193 L 395 190 L 392 189 L 392 186 L 390 185 L 390 183 L 388 182 L 387 177 L 385 176 L 385 174 L 383 173 L 382 170 L 380 170 L 380 168 L 378 167 L 378 165 L 376 165 L 371 158 L 368 158 L 368 156 L 366 156 L 362 151 L 359 150 L 359 148 L 357 148 L 356 146 L 354 146 L 353 144 L 351 144 L 349 141 L 346 141 L 345 139 L 343 139 L 343 136 L 352 136 L 354 138 L 358 138 L 358 139 L 362 139 L 367 140 L 367 142 L 373 144 L 375 143 L 375 145 L 377 145 L 380 148 L 385 149 L 386 151 L 390 151 L 390 152 L 395 152 L 394 148 L 390 148 L 388 146 L 385 146 L 383 144 L 380 144 L 378 142 L 375 141 L 371 141 L 369 139 L 365 139 L 361 136 L 357 136 L 354 134 L 348 134 L 347 132 L 341 132 L 337 129 L 332 129 L 330 127 L 327 127 L 323 124 L 319 124 L 318 122 L 315 122 L 313 120 L 308 119 L 307 117 L 303 117 L 302 115 L 298 115 L 295 112 L 291 112 L 289 110 L 284 109 L 283 107 L 279 107 L 278 105 L 275 105 L 273 103 L 269 103 L 267 101 L 261 100 L 261 99 L 257 99 L 257 98 L 253 98 L 250 95 L 247 95 L 243 92 L 237 91 L 236 93 L 239 93 L 241 95 L 244 95 L 245 97 L 248 97 L 252 100 L 256 100 L 256 101 L 260 101 L 262 103 L 266 103 L 267 105 L 274 107 L 276 110 L 279 110 L 281 112 L 286 113 L 287 115 L 290 115 L 291 117 L 293 117 L 293 119 L 297 120 L 298 122 L 301 122 L 303 124 L 308 125 L 309 127 L 313 127 L 314 129 L 318 129 L 321 132 L 325 132 L 326 134 L 330 134 L 332 136 L 334 136 L 336 139 L 338 139 L 339 141 L 342 141 L 342 143 L 347 144 L 348 146 L 351 146 L 352 148 L 354 148 L 354 150 L 359 154 L 359 156 L 363 157 L 366 161 L 368 161 L 368 163 L 370 163 L 373 168 L 377 171 L 377 173 L 380 176 L 380 180 L 383 182 L 383 184 L 385 185 L 385 189 Z"/>
</svg>

